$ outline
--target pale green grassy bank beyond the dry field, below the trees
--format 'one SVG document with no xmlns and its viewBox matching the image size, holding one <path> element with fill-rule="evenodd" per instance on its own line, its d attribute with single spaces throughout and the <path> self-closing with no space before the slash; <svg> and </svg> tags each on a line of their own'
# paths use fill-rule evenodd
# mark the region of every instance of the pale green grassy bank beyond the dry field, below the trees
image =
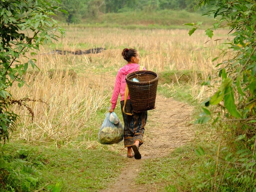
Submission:
<svg viewBox="0 0 256 192">
<path fill-rule="evenodd" d="M 213 19 L 187 11 L 136 11 L 107 13 L 96 18 L 83 19 L 76 27 L 118 27 L 123 29 L 190 29 L 184 23 L 203 21 L 210 26 Z"/>
</svg>

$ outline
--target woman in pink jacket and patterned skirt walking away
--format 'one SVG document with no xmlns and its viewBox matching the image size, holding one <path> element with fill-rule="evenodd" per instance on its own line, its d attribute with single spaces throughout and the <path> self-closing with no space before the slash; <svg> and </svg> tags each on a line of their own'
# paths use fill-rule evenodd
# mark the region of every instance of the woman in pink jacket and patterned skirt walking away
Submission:
<svg viewBox="0 0 256 192">
<path fill-rule="evenodd" d="M 140 66 L 138 65 L 140 58 L 137 50 L 126 48 L 122 51 L 122 56 L 127 61 L 127 64 L 120 68 L 117 72 L 116 83 L 111 98 L 112 105 L 109 112 L 113 112 L 115 110 L 119 93 L 121 95 L 121 109 L 124 106 L 126 75 L 134 71 L 141 70 Z M 146 70 L 144 67 L 142 69 Z M 133 108 L 129 95 L 125 105 L 125 112 L 133 114 Z M 139 146 L 143 143 L 144 127 L 147 123 L 148 113 L 147 111 L 143 111 L 133 115 L 127 115 L 122 111 L 122 115 L 124 121 L 124 147 L 127 147 L 127 157 L 135 157 L 135 159 L 141 159 Z"/>
</svg>

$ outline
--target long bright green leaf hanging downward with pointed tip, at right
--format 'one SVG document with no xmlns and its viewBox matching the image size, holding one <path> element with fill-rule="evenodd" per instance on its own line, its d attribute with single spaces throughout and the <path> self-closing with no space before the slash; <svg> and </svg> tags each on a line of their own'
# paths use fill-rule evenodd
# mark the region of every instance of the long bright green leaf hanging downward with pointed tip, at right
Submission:
<svg viewBox="0 0 256 192">
<path fill-rule="evenodd" d="M 225 96 L 224 96 L 224 106 L 228 110 L 228 112 L 236 118 L 240 118 L 241 114 L 237 110 L 235 105 L 235 99 L 234 99 L 234 91 L 231 86 L 227 87 L 225 89 Z"/>
</svg>

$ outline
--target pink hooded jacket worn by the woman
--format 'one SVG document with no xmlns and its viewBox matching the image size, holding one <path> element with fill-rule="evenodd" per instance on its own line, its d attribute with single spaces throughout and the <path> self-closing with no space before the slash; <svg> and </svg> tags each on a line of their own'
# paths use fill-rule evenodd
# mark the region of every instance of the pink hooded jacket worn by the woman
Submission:
<svg viewBox="0 0 256 192">
<path fill-rule="evenodd" d="M 116 83 L 115 83 L 114 91 L 113 91 L 112 98 L 111 98 L 111 103 L 112 103 L 111 108 L 112 109 L 115 109 L 115 107 L 116 107 L 119 93 L 121 95 L 121 101 L 124 100 L 126 75 L 129 73 L 132 73 L 134 71 L 139 71 L 139 68 L 140 68 L 140 65 L 138 65 L 136 63 L 132 63 L 132 64 L 127 64 L 118 70 L 117 76 L 116 76 Z M 146 70 L 146 68 L 143 67 L 143 70 Z M 130 94 L 128 95 L 127 99 L 130 99 Z"/>
</svg>

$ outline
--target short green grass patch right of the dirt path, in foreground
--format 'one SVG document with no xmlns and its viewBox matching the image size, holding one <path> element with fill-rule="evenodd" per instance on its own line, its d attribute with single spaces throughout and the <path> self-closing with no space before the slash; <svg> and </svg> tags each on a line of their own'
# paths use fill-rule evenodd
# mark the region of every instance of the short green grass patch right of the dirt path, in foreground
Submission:
<svg viewBox="0 0 256 192">
<path fill-rule="evenodd" d="M 155 184 L 160 191 L 197 191 L 202 161 L 195 154 L 195 148 L 194 144 L 188 144 L 166 157 L 146 160 L 136 183 Z"/>
</svg>

